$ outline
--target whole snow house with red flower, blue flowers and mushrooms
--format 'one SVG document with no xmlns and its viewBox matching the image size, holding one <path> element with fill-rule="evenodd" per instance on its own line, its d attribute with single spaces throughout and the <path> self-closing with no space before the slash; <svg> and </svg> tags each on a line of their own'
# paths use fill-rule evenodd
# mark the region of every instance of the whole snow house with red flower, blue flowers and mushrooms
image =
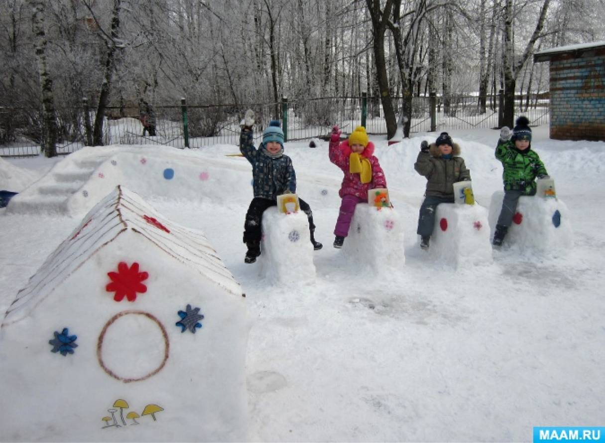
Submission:
<svg viewBox="0 0 605 443">
<path fill-rule="evenodd" d="M 117 186 L 7 309 L 3 435 L 243 441 L 245 300 L 201 232 Z"/>
</svg>

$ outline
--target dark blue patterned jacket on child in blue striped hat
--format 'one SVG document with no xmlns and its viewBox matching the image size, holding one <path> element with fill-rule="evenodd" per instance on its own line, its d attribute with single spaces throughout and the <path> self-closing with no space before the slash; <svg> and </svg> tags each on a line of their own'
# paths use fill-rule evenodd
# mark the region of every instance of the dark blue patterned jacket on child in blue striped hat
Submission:
<svg viewBox="0 0 605 443">
<path fill-rule="evenodd" d="M 254 197 L 277 200 L 286 190 L 296 192 L 296 174 L 290 157 L 269 157 L 263 143 L 258 149 L 254 147 L 253 132 L 244 130 L 240 133 L 240 152 L 252 165 Z"/>
</svg>

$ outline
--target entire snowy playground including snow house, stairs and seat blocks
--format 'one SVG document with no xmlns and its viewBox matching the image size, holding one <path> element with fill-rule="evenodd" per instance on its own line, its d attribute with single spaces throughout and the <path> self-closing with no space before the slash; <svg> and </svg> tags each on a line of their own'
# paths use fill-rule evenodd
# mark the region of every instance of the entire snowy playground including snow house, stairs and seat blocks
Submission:
<svg viewBox="0 0 605 443">
<path fill-rule="evenodd" d="M 529 441 L 602 425 L 605 143 L 534 148 L 557 198 L 502 202 L 497 131 L 452 132 L 476 204 L 419 248 L 419 134 L 376 137 L 393 209 L 332 248 L 342 173 L 286 143 L 304 214 L 270 209 L 244 264 L 237 146 L 0 158 L 0 441 Z M 508 240 L 508 241 L 507 241 Z"/>
</svg>

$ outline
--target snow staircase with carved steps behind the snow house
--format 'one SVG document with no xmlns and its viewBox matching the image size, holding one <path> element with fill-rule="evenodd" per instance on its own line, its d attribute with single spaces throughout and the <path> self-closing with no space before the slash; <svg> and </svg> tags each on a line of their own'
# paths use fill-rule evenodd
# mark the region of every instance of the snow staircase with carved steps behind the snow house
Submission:
<svg viewBox="0 0 605 443">
<path fill-rule="evenodd" d="M 48 212 L 68 215 L 67 202 L 90 179 L 99 165 L 110 157 L 96 156 L 94 159 L 70 161 L 67 157 L 57 163 L 48 174 L 33 183 L 25 191 L 15 195 L 7 206 L 11 214 Z"/>
</svg>

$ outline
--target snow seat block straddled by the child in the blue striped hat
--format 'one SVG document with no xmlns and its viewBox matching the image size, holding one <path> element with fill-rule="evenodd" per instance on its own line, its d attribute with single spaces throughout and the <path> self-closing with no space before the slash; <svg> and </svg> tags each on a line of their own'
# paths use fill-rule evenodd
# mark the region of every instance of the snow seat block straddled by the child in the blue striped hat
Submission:
<svg viewBox="0 0 605 443">
<path fill-rule="evenodd" d="M 263 213 L 261 275 L 272 283 L 315 281 L 309 220 L 302 211 L 283 214 L 276 206 Z"/>
</svg>

